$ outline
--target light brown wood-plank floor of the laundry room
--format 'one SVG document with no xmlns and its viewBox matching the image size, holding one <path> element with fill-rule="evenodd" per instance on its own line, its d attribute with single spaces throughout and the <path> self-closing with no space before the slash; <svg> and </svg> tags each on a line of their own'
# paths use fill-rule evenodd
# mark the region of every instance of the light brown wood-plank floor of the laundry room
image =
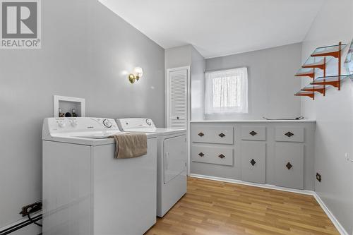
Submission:
<svg viewBox="0 0 353 235">
<path fill-rule="evenodd" d="M 190 178 L 146 235 L 339 234 L 311 195 Z"/>
</svg>

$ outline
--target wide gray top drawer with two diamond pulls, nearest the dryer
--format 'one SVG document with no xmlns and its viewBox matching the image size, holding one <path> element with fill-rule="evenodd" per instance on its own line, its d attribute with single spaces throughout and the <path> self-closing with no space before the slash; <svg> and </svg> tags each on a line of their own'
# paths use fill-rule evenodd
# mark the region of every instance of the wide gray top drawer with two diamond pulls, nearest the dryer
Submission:
<svg viewBox="0 0 353 235">
<path fill-rule="evenodd" d="M 233 144 L 232 126 L 195 126 L 191 128 L 191 141 L 198 143 Z"/>
</svg>

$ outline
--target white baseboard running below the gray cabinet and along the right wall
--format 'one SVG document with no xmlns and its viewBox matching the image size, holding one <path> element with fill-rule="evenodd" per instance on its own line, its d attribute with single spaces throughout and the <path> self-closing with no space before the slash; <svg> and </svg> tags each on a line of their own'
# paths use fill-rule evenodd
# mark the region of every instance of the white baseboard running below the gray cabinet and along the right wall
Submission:
<svg viewBox="0 0 353 235">
<path fill-rule="evenodd" d="M 290 193 L 301 193 L 301 194 L 305 194 L 305 195 L 312 195 L 313 198 L 315 198 L 316 201 L 318 202 L 318 205 L 321 206 L 321 208 L 323 209 L 325 214 L 331 220 L 331 222 L 333 222 L 333 225 L 335 226 L 337 231 L 341 235 L 349 235 L 347 233 L 347 231 L 345 230 L 345 228 L 342 227 L 342 224 L 340 224 L 340 222 L 338 222 L 335 215 L 333 215 L 333 213 L 328 209 L 328 207 L 325 205 L 325 203 L 323 203 L 323 200 L 321 200 L 320 196 L 314 191 L 301 190 L 301 189 L 295 189 L 295 188 L 285 188 L 285 187 L 280 187 L 280 186 L 274 186 L 271 184 L 251 183 L 251 182 L 246 182 L 246 181 L 240 181 L 237 179 L 227 179 L 227 178 L 215 177 L 215 176 L 205 176 L 202 174 L 189 174 L 189 176 L 193 177 L 193 178 L 198 178 L 198 179 L 210 179 L 213 181 L 237 183 L 237 184 L 243 184 L 243 185 L 247 185 L 247 186 L 255 186 L 255 187 L 259 187 L 259 188 L 269 188 L 269 189 L 274 189 L 274 190 L 278 190 L 278 191 L 285 191 L 285 192 L 290 192 Z"/>
</svg>

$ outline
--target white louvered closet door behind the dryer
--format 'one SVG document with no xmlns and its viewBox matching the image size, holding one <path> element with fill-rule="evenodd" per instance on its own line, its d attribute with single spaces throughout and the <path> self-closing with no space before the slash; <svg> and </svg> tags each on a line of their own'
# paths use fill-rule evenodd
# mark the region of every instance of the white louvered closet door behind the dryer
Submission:
<svg viewBox="0 0 353 235">
<path fill-rule="evenodd" d="M 186 68 L 170 71 L 167 97 L 169 98 L 168 128 L 186 128 L 188 70 Z"/>
</svg>

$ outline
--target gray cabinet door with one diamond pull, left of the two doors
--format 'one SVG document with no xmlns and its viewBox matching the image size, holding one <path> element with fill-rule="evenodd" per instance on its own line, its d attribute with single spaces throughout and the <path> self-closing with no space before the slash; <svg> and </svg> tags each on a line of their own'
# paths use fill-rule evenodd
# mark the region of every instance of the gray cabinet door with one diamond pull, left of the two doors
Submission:
<svg viewBox="0 0 353 235">
<path fill-rule="evenodd" d="M 241 180 L 265 183 L 266 144 L 256 141 L 241 142 Z"/>
</svg>

